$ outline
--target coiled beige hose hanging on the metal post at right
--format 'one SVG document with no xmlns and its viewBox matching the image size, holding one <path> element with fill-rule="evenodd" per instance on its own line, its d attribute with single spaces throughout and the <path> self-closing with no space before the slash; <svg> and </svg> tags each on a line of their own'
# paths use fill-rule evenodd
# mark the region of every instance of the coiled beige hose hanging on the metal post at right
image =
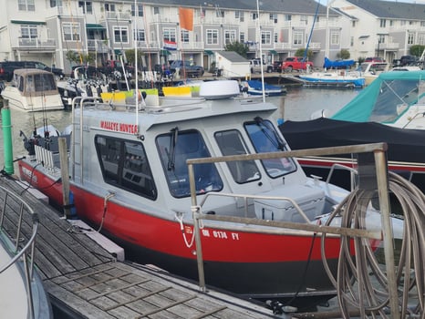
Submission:
<svg viewBox="0 0 425 319">
<path fill-rule="evenodd" d="M 399 201 L 404 215 L 403 238 L 396 262 L 396 278 L 401 318 L 425 319 L 425 195 L 408 180 L 389 172 L 389 190 Z M 374 190 L 354 190 L 327 224 L 342 216 L 341 226 L 366 229 L 368 205 L 377 193 Z M 337 278 L 327 264 L 325 242 L 322 235 L 322 260 L 327 274 L 337 289 L 341 314 L 349 318 L 349 307 L 358 309 L 362 318 L 389 318 L 389 288 L 384 267 L 374 253 L 373 242 L 366 238 L 341 236 L 341 251 Z M 352 258 L 352 248 L 355 257 Z"/>
</svg>

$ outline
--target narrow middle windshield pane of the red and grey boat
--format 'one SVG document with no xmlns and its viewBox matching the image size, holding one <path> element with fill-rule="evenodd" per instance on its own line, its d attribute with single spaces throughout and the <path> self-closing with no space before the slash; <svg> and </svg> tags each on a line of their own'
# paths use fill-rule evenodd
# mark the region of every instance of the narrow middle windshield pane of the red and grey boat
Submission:
<svg viewBox="0 0 425 319">
<path fill-rule="evenodd" d="M 236 129 L 216 132 L 214 138 L 223 156 L 249 153 L 241 133 Z M 228 161 L 226 164 L 232 174 L 233 180 L 239 184 L 261 178 L 260 171 L 254 160 L 235 160 Z"/>
</svg>

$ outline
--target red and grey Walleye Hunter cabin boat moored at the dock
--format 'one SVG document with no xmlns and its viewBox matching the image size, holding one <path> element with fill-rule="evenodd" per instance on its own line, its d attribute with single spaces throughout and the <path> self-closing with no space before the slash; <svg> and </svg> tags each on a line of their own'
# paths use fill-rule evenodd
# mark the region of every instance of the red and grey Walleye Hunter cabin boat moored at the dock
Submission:
<svg viewBox="0 0 425 319">
<path fill-rule="evenodd" d="M 202 83 L 199 98 L 156 101 L 73 103 L 66 207 L 134 261 L 191 279 L 204 273 L 209 286 L 262 300 L 333 296 L 323 262 L 337 272 L 340 237 L 326 236 L 322 249 L 316 232 L 270 223 L 325 224 L 348 192 L 307 178 L 285 157 L 275 105 L 240 97 L 229 80 Z M 18 166 L 21 179 L 62 206 L 58 139 L 26 140 Z M 197 213 L 210 219 L 198 227 Z"/>
</svg>

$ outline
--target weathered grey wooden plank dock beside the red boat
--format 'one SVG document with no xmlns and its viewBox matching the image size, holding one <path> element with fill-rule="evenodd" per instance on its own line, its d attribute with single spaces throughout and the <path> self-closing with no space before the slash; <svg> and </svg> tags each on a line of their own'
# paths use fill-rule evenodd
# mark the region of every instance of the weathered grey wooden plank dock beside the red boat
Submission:
<svg viewBox="0 0 425 319">
<path fill-rule="evenodd" d="M 196 284 L 146 265 L 119 262 L 116 256 L 75 232 L 46 202 L 37 200 L 16 180 L 0 185 L 19 194 L 38 214 L 35 262 L 54 308 L 55 318 L 274 318 L 272 311 L 233 296 L 200 291 Z M 18 205 L 0 212 L 6 232 L 16 234 Z M 30 216 L 26 216 L 30 218 Z M 28 236 L 30 222 L 21 232 Z"/>
</svg>

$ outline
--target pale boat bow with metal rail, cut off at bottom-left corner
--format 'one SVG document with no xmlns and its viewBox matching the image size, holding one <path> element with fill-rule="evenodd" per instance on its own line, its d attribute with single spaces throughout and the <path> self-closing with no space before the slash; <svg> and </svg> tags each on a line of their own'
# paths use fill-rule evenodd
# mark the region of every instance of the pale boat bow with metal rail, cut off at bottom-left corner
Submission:
<svg viewBox="0 0 425 319">
<path fill-rule="evenodd" d="M 21 216 L 29 213 L 32 227 L 31 237 L 25 239 L 22 233 L 9 235 L 5 228 L 3 214 L 0 224 L 0 316 L 14 319 L 53 319 L 51 304 L 34 265 L 34 252 L 38 220 L 36 213 L 16 194 L 1 187 L 5 198 L 4 207 L 20 205 Z M 17 215 L 17 214 L 16 214 Z M 26 222 L 16 217 L 16 222 Z M 10 222 L 10 221 L 9 221 Z M 20 227 L 17 227 L 20 229 Z M 19 244 L 16 244 L 18 239 Z"/>
</svg>

